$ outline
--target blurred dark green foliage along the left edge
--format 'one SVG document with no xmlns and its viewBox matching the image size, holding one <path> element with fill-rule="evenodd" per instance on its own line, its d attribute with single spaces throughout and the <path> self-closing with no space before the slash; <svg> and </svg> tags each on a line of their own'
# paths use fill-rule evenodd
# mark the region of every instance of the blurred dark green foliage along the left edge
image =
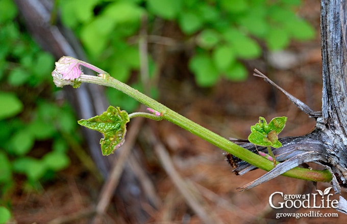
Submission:
<svg viewBox="0 0 347 224">
<path fill-rule="evenodd" d="M 16 178 L 26 178 L 20 187 L 37 188 L 39 181 L 66 168 L 69 146 L 63 136 L 78 139 L 72 108 L 54 100 L 57 88 L 50 74 L 55 59 L 39 48 L 20 21 L 13 0 L 0 1 L 0 205 L 4 206 L 10 204 Z M 5 207 L 0 207 L 0 217 L 8 217 Z"/>
</svg>

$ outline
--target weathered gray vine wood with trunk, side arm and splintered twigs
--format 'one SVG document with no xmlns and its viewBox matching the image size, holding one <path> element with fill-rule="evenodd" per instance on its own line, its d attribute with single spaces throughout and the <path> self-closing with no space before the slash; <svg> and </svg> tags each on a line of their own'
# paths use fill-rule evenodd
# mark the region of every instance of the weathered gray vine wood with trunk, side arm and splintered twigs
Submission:
<svg viewBox="0 0 347 224">
<path fill-rule="evenodd" d="M 257 186 L 274 178 L 303 162 L 316 162 L 324 165 L 333 175 L 332 185 L 340 192 L 340 186 L 346 186 L 347 180 L 347 0 L 321 0 L 321 51 L 323 59 L 322 111 L 312 111 L 300 100 L 286 93 L 274 82 L 257 72 L 271 85 L 282 91 L 295 105 L 311 117 L 316 118 L 316 127 L 312 133 L 299 137 L 280 139 L 283 146 L 273 152 L 279 167 L 263 177 L 247 184 L 242 189 Z M 242 147 L 255 151 L 250 143 L 232 140 Z M 258 147 L 264 151 L 264 147 Z M 227 155 L 234 167 L 234 173 L 244 174 L 254 166 Z"/>
</svg>

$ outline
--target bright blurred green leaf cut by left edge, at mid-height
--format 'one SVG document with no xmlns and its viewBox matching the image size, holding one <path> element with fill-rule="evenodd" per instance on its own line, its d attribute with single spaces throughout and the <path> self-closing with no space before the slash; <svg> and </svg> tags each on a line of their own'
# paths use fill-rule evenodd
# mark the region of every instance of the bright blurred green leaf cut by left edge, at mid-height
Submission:
<svg viewBox="0 0 347 224">
<path fill-rule="evenodd" d="M 0 120 L 10 118 L 23 109 L 22 102 L 13 93 L 0 92 Z"/>
</svg>

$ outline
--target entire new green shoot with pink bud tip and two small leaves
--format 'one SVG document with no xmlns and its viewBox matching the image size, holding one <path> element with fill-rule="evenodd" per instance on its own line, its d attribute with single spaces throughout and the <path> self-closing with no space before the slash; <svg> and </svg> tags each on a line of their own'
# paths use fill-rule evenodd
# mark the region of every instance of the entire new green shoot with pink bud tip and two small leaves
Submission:
<svg viewBox="0 0 347 224">
<path fill-rule="evenodd" d="M 95 71 L 97 75 L 84 74 L 81 70 L 81 66 Z M 259 167 L 262 170 L 271 171 L 273 169 L 271 172 L 277 173 L 272 175 L 271 178 L 284 175 L 315 182 L 329 182 L 332 179 L 328 170 L 318 171 L 301 167 L 285 167 L 281 165 L 284 163 L 276 161 L 275 155 L 271 151 L 271 147 L 279 148 L 282 146 L 278 140 L 278 134 L 284 128 L 287 120 L 286 117 L 274 118 L 268 124 L 264 118 L 260 117 L 259 123 L 251 127 L 252 132 L 249 136 L 249 141 L 255 145 L 266 146 L 269 154 L 269 156 L 267 156 L 265 153 L 259 152 L 260 155 L 258 155 L 230 142 L 227 138 L 206 129 L 199 124 L 194 123 L 156 100 L 113 78 L 106 71 L 89 63 L 71 57 L 62 57 L 58 62 L 56 62 L 56 68 L 52 72 L 52 76 L 57 87 L 71 85 L 74 88 L 79 88 L 83 82 L 94 83 L 115 88 L 148 107 L 148 112 L 128 114 L 127 111 L 121 110 L 119 107 L 109 106 L 107 111 L 102 115 L 78 121 L 80 125 L 99 131 L 104 135 L 104 138 L 100 141 L 103 155 L 110 155 L 116 149 L 121 147 L 125 141 L 126 125 L 132 118 L 145 117 L 157 121 L 167 120 L 205 139 L 207 142 L 215 145 L 221 150 Z M 262 182 L 254 181 L 251 185 L 243 187 L 243 189 L 257 186 Z"/>
</svg>

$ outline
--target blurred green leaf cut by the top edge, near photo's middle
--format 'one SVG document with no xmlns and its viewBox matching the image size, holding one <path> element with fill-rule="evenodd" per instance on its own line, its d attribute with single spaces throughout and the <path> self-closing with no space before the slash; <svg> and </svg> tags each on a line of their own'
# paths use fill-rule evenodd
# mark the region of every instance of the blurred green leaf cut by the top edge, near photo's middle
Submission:
<svg viewBox="0 0 347 224">
<path fill-rule="evenodd" d="M 148 0 L 148 11 L 164 19 L 174 19 L 182 10 L 181 0 Z"/>
</svg>

